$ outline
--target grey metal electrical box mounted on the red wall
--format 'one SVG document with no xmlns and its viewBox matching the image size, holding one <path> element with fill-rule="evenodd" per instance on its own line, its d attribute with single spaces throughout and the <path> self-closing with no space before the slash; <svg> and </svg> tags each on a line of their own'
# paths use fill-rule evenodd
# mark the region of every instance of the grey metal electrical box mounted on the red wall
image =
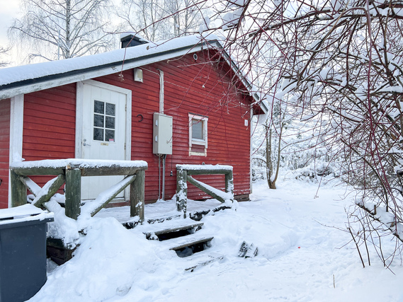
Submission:
<svg viewBox="0 0 403 302">
<path fill-rule="evenodd" d="M 154 113 L 152 153 L 172 154 L 172 117 Z"/>
</svg>

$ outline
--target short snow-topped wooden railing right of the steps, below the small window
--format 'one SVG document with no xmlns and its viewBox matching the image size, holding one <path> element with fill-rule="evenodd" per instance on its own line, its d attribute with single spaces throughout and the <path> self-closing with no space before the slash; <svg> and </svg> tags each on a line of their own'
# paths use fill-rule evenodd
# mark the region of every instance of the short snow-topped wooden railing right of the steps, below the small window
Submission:
<svg viewBox="0 0 403 302">
<path fill-rule="evenodd" d="M 195 180 L 190 175 L 225 175 L 225 192 Z M 190 182 L 211 197 L 224 203 L 234 202 L 234 180 L 231 165 L 176 165 L 176 209 L 186 218 L 188 184 Z"/>
</svg>

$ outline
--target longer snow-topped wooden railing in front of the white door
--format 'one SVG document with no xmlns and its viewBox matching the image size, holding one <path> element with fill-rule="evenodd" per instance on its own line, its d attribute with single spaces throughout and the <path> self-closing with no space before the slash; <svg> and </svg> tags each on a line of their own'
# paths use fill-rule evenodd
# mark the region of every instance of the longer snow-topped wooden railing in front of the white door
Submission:
<svg viewBox="0 0 403 302">
<path fill-rule="evenodd" d="M 66 216 L 77 219 L 80 214 L 94 216 L 125 187 L 130 185 L 130 216 L 144 221 L 145 161 L 102 161 L 69 158 L 61 160 L 23 161 L 10 165 L 11 207 L 27 203 L 27 189 L 33 193 L 33 204 L 41 207 L 66 183 Z M 57 175 L 42 188 L 28 176 Z M 98 197 L 81 207 L 81 176 L 126 175 L 126 177 Z"/>
</svg>

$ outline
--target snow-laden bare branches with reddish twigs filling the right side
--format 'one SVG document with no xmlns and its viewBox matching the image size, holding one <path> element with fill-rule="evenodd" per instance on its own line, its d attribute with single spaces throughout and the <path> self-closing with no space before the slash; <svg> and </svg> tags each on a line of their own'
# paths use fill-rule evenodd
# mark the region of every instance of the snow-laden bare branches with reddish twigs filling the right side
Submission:
<svg viewBox="0 0 403 302">
<path fill-rule="evenodd" d="M 280 88 L 261 93 L 291 95 L 295 118 L 318 121 L 317 136 L 343 158 L 344 180 L 359 190 L 356 206 L 365 211 L 356 216 L 372 219 L 356 235 L 379 247 L 369 235 L 390 232 L 401 245 L 402 2 L 239 0 L 214 8 L 208 30 L 226 30 L 225 48 L 252 81 L 277 75 Z"/>
</svg>

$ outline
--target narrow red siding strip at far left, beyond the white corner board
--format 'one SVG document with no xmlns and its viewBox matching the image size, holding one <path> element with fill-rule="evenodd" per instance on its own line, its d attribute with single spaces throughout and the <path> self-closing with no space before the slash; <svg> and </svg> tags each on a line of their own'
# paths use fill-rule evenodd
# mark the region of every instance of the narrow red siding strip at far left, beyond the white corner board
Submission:
<svg viewBox="0 0 403 302">
<path fill-rule="evenodd" d="M 0 209 L 8 207 L 8 163 L 10 146 L 10 99 L 0 101 Z"/>
</svg>

